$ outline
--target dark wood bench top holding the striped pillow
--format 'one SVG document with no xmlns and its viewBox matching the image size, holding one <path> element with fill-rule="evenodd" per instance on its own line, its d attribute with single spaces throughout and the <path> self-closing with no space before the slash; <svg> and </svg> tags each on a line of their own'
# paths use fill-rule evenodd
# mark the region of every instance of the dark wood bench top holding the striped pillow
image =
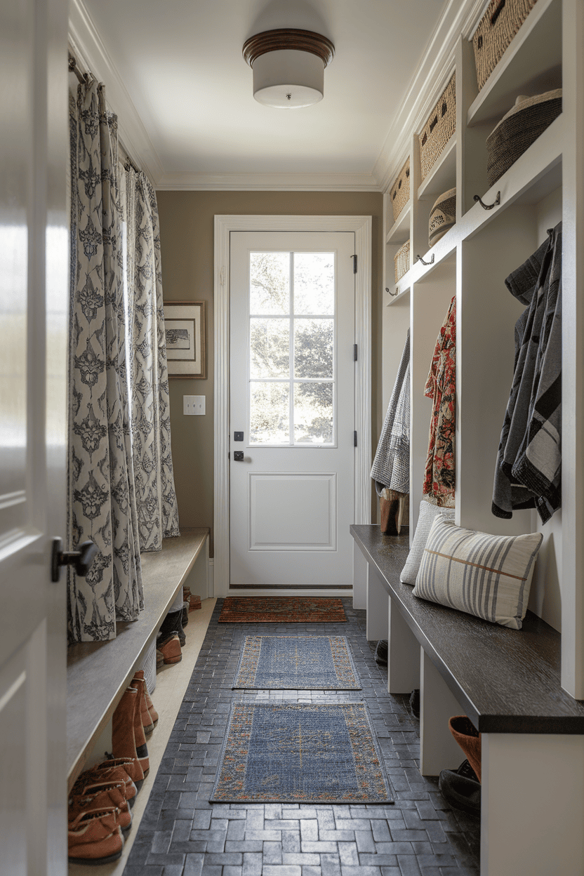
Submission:
<svg viewBox="0 0 584 876">
<path fill-rule="evenodd" d="M 399 580 L 407 537 L 388 537 L 379 526 L 350 529 L 393 606 L 478 731 L 584 734 L 584 702 L 559 683 L 559 632 L 531 611 L 521 630 L 510 630 L 413 597 L 412 586 Z"/>
</svg>

